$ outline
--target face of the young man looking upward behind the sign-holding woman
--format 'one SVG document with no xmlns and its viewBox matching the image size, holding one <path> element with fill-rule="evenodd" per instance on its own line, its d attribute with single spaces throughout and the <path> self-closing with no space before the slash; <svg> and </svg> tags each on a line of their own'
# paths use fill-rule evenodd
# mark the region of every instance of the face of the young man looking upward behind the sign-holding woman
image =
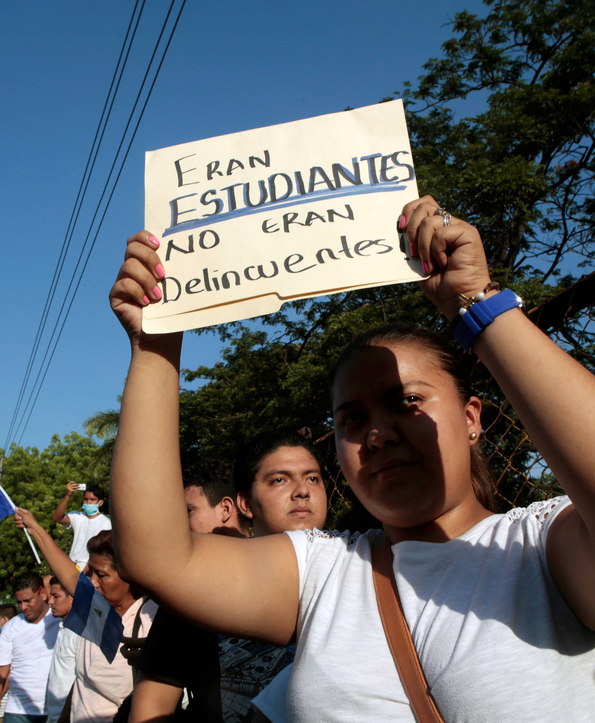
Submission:
<svg viewBox="0 0 595 723">
<path fill-rule="evenodd" d="M 255 536 L 324 527 L 326 490 L 318 462 L 303 447 L 279 447 L 266 455 L 250 494 L 240 495 Z"/>
</svg>

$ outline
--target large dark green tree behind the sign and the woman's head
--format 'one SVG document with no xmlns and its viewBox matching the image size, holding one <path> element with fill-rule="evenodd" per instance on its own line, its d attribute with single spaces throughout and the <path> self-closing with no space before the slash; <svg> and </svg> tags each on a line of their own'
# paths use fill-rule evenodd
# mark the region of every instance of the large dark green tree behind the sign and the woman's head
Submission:
<svg viewBox="0 0 595 723">
<path fill-rule="evenodd" d="M 492 278 L 528 308 L 571 283 L 568 268 L 594 259 L 594 10 L 592 0 L 489 0 L 483 18 L 461 12 L 442 58 L 402 93 L 421 194 L 479 228 Z M 474 98 L 484 110 L 461 117 Z M 182 463 L 229 457 L 239 440 L 279 427 L 326 435 L 329 366 L 355 334 L 392 320 L 446 326 L 416 286 L 402 285 L 285 304 L 258 330 L 242 322 L 211 329 L 229 347 L 214 367 L 183 372 L 186 382 L 206 383 L 181 392 Z M 576 323 L 565 320 L 569 341 Z M 520 504 L 533 494 L 522 471 L 535 450 L 481 365 L 473 379 L 492 401 L 484 427 L 497 440 L 491 463 L 503 476 L 503 504 Z M 342 494 L 332 448 L 327 474 Z M 338 500 L 334 510 L 349 504 Z"/>
</svg>

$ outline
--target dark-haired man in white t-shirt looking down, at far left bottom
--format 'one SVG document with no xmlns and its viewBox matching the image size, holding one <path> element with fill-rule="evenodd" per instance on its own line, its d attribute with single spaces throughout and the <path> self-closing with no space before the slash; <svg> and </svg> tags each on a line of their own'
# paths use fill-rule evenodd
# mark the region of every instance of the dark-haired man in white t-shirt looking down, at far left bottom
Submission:
<svg viewBox="0 0 595 723">
<path fill-rule="evenodd" d="M 43 723 L 46 689 L 59 619 L 51 615 L 43 579 L 24 573 L 13 583 L 21 614 L 0 636 L 0 690 L 9 677 L 4 723 Z"/>
</svg>

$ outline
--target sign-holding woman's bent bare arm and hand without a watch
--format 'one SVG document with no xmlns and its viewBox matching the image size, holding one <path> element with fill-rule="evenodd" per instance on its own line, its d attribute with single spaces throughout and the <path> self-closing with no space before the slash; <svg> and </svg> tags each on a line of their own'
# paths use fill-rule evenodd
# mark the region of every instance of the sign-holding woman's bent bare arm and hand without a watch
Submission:
<svg viewBox="0 0 595 723">
<path fill-rule="evenodd" d="M 287 643 L 299 589 L 290 539 L 190 534 L 178 424 L 182 335 L 141 331 L 142 307 L 160 298 L 164 275 L 151 238 L 141 231 L 128 239 L 110 292 L 132 351 L 111 466 L 119 572 L 204 627 Z"/>
</svg>

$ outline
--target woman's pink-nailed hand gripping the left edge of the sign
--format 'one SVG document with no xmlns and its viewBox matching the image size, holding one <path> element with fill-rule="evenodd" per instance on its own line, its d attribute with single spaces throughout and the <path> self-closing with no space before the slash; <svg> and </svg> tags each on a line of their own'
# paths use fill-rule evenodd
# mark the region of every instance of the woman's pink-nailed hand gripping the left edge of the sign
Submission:
<svg viewBox="0 0 595 723">
<path fill-rule="evenodd" d="M 143 334 L 143 307 L 162 297 L 157 282 L 165 276 L 156 254 L 159 241 L 149 231 L 139 231 L 127 241 L 124 263 L 109 292 L 109 303 L 130 341 Z"/>
</svg>

